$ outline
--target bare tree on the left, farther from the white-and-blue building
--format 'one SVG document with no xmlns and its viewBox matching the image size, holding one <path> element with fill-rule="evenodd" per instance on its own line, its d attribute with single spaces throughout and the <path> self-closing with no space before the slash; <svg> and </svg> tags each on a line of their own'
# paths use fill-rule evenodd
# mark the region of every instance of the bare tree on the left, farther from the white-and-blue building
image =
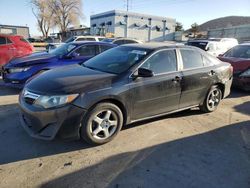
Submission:
<svg viewBox="0 0 250 188">
<path fill-rule="evenodd" d="M 37 19 L 39 30 L 43 37 L 47 38 L 49 30 L 53 25 L 54 12 L 51 10 L 49 4 L 51 0 L 31 0 L 30 4 L 32 12 Z"/>
</svg>

